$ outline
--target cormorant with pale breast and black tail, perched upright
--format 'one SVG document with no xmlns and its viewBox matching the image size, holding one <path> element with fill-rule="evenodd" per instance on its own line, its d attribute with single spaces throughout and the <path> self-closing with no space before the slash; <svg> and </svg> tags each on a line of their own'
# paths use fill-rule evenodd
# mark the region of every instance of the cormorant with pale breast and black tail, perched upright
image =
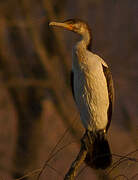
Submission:
<svg viewBox="0 0 138 180">
<path fill-rule="evenodd" d="M 63 22 L 52 21 L 49 25 L 78 34 L 79 40 L 72 50 L 71 87 L 89 139 L 85 162 L 94 169 L 106 169 L 112 163 L 107 140 L 114 106 L 110 68 L 91 51 L 92 32 L 87 22 L 74 18 Z"/>
</svg>

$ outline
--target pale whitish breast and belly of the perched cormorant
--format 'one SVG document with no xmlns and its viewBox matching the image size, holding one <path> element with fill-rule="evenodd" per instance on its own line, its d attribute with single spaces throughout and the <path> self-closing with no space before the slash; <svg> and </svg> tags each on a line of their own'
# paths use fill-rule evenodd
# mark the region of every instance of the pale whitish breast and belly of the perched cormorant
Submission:
<svg viewBox="0 0 138 180">
<path fill-rule="evenodd" d="M 75 100 L 84 127 L 91 131 L 105 129 L 108 121 L 109 98 L 102 63 L 87 50 L 73 53 Z"/>
</svg>

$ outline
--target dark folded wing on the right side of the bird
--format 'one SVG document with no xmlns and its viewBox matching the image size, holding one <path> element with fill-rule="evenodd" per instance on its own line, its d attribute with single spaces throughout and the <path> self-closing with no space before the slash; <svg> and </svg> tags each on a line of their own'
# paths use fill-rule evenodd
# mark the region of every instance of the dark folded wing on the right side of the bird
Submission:
<svg viewBox="0 0 138 180">
<path fill-rule="evenodd" d="M 108 130 L 111 119 L 112 119 L 112 112 L 113 112 L 113 105 L 114 105 L 114 86 L 113 86 L 113 79 L 112 74 L 108 67 L 103 65 L 103 72 L 106 77 L 107 81 L 107 88 L 108 88 L 108 96 L 109 96 L 109 107 L 108 107 L 108 124 L 106 126 L 106 131 Z"/>
</svg>

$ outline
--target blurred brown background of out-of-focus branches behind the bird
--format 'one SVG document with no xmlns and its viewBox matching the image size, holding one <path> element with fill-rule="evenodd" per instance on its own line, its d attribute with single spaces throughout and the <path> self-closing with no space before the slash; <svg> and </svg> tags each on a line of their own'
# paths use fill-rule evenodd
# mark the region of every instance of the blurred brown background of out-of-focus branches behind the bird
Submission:
<svg viewBox="0 0 138 180">
<path fill-rule="evenodd" d="M 92 51 L 110 65 L 116 94 L 113 165 L 97 172 L 83 164 L 77 179 L 137 179 L 138 1 L 1 0 L 0 12 L 1 179 L 36 179 L 61 138 L 40 179 L 63 179 L 79 152 L 84 129 L 70 88 L 78 37 L 48 26 L 74 17 L 92 28 Z M 135 159 L 120 160 L 127 154 Z"/>
</svg>

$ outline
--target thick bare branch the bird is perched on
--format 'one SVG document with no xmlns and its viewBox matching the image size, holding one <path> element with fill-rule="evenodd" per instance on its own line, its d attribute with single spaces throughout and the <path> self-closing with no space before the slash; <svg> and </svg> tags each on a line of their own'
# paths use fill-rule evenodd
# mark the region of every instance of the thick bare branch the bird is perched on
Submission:
<svg viewBox="0 0 138 180">
<path fill-rule="evenodd" d="M 85 140 L 86 140 L 86 134 L 82 138 L 82 144 L 81 144 L 80 152 L 79 152 L 77 158 L 75 159 L 75 161 L 72 163 L 69 171 L 65 175 L 64 180 L 74 180 L 78 168 L 80 167 L 80 165 L 85 160 L 85 157 L 87 155 L 87 148 L 86 148 Z"/>
</svg>

